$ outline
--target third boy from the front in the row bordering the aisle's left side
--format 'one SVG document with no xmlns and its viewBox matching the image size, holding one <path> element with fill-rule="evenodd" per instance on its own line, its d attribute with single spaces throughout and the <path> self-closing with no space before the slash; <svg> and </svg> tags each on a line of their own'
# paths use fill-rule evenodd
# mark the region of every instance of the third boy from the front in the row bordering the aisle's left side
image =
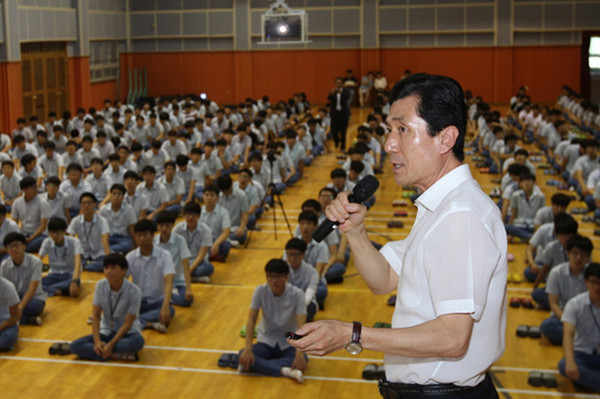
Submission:
<svg viewBox="0 0 600 399">
<path fill-rule="evenodd" d="M 154 237 L 154 245 L 169 252 L 173 259 L 175 276 L 171 303 L 175 306 L 189 307 L 194 301 L 189 268 L 191 254 L 185 239 L 178 234 L 173 234 L 175 219 L 175 215 L 169 211 L 162 211 L 156 216 L 159 234 Z"/>
</svg>

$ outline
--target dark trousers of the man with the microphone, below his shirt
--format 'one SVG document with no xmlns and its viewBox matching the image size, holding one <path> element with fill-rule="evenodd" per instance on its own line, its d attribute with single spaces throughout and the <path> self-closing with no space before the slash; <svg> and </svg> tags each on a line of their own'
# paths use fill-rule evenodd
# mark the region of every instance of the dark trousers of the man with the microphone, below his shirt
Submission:
<svg viewBox="0 0 600 399">
<path fill-rule="evenodd" d="M 489 374 L 474 387 L 459 387 L 454 384 L 418 385 L 379 382 L 379 393 L 384 399 L 498 399 L 498 392 Z"/>
</svg>

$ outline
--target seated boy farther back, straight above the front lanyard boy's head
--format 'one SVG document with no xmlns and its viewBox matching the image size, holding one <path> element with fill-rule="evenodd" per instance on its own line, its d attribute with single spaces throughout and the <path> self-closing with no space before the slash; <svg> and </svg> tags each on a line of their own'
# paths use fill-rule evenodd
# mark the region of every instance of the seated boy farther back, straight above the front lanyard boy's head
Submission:
<svg viewBox="0 0 600 399">
<path fill-rule="evenodd" d="M 138 217 L 135 210 L 125 199 L 127 190 L 122 184 L 113 184 L 110 187 L 110 202 L 104 204 L 98 214 L 106 219 L 110 228 L 108 243 L 113 253 L 126 254 L 133 246 L 133 226 Z"/>
</svg>

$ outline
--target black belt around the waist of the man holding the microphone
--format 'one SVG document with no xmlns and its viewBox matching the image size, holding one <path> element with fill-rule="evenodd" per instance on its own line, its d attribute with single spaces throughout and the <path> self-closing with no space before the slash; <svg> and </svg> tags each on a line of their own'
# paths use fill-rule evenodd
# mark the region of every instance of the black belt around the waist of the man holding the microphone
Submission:
<svg viewBox="0 0 600 399">
<path fill-rule="evenodd" d="M 460 386 L 455 384 L 435 384 L 435 385 L 419 385 L 419 384 L 403 384 L 399 382 L 379 381 L 379 393 L 384 399 L 401 399 L 401 398 L 429 398 L 429 397 L 444 397 L 460 394 L 476 393 L 485 388 L 490 376 L 486 373 L 485 379 L 475 386 Z"/>
</svg>

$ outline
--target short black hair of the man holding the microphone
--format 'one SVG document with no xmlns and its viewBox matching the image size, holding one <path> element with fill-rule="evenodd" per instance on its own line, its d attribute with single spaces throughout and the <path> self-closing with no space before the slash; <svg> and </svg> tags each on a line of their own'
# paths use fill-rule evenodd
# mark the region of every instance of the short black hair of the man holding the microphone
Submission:
<svg viewBox="0 0 600 399">
<path fill-rule="evenodd" d="M 402 79 L 390 93 L 390 104 L 409 96 L 419 99 L 417 114 L 427 122 L 427 132 L 434 137 L 448 126 L 458 129 L 452 148 L 454 156 L 463 161 L 467 130 L 465 94 L 460 84 L 447 76 L 417 73 Z"/>
</svg>

